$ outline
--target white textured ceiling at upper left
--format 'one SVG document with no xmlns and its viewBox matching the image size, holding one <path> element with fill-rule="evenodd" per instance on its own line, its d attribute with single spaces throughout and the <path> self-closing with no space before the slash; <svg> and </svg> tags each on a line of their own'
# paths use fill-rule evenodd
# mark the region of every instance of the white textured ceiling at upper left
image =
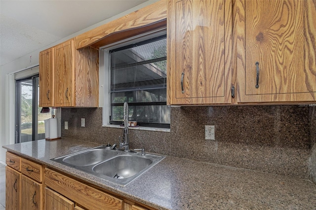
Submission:
<svg viewBox="0 0 316 210">
<path fill-rule="evenodd" d="M 147 0 L 0 0 L 0 65 Z"/>
</svg>

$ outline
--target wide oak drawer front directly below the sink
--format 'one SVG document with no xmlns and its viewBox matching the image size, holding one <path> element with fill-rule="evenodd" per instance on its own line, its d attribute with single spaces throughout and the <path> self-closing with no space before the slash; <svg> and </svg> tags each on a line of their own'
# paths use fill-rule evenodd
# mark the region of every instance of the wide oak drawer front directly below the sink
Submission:
<svg viewBox="0 0 316 210">
<path fill-rule="evenodd" d="M 47 168 L 45 185 L 89 210 L 122 209 L 122 200 Z"/>
</svg>

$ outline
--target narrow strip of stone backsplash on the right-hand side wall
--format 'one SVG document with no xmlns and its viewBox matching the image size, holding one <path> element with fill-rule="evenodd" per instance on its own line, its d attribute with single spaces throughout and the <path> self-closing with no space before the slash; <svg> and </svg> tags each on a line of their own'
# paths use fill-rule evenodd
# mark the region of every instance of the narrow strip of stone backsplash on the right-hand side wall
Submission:
<svg viewBox="0 0 316 210">
<path fill-rule="evenodd" d="M 316 107 L 310 108 L 311 115 L 311 179 L 316 183 Z"/>
</svg>

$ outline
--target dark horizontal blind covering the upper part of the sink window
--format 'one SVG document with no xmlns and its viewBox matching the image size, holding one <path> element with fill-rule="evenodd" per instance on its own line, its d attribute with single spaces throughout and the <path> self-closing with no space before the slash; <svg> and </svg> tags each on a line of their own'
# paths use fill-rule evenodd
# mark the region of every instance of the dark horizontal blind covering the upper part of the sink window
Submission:
<svg viewBox="0 0 316 210">
<path fill-rule="evenodd" d="M 166 35 L 110 51 L 111 93 L 166 88 Z"/>
</svg>

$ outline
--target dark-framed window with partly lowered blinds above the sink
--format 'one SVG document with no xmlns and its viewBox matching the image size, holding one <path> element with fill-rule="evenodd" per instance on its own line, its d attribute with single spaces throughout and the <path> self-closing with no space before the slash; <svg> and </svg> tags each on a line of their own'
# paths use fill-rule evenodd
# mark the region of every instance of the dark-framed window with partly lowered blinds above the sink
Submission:
<svg viewBox="0 0 316 210">
<path fill-rule="evenodd" d="M 166 105 L 166 35 L 109 51 L 110 124 L 122 124 L 123 104 L 129 121 L 146 127 L 170 128 Z"/>
</svg>

